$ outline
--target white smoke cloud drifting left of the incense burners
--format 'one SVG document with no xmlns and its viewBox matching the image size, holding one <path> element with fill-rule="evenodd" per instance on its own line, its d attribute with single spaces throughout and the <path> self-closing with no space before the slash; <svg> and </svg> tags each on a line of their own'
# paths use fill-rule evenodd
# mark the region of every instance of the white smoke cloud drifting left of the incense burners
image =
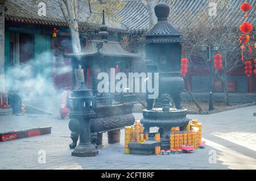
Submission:
<svg viewBox="0 0 256 181">
<path fill-rule="evenodd" d="M 40 57 L 51 57 L 51 55 L 45 52 Z M 71 73 L 72 67 L 59 62 L 58 65 L 61 66 L 56 68 L 54 59 L 49 62 L 40 58 L 10 67 L 5 75 L 5 89 L 9 92 L 18 91 L 25 104 L 33 104 L 47 109 L 48 112 L 58 111 L 59 107 L 56 104 L 59 104 L 62 90 L 56 89 L 53 74 L 57 76 Z"/>
</svg>

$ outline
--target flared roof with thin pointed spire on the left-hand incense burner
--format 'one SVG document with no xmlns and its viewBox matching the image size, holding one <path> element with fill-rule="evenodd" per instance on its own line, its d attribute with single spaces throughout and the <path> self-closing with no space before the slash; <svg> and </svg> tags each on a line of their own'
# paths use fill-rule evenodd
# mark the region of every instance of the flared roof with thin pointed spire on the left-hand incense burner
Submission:
<svg viewBox="0 0 256 181">
<path fill-rule="evenodd" d="M 103 11 L 102 26 L 100 27 L 100 39 L 89 40 L 86 47 L 80 52 L 67 53 L 66 57 L 89 57 L 89 56 L 108 56 L 108 57 L 141 57 L 140 53 L 130 53 L 121 47 L 118 41 L 108 40 L 108 27 L 105 24 L 105 13 Z"/>
</svg>

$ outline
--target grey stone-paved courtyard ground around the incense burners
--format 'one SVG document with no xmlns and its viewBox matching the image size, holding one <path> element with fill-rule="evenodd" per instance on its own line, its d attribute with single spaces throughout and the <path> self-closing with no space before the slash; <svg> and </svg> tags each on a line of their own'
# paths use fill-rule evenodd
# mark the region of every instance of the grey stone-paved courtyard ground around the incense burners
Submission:
<svg viewBox="0 0 256 181">
<path fill-rule="evenodd" d="M 207 142 L 207 148 L 192 154 L 124 154 L 122 131 L 121 144 L 108 145 L 105 134 L 104 148 L 97 157 L 91 158 L 71 156 L 68 119 L 42 115 L 2 116 L 0 132 L 51 125 L 52 134 L 1 142 L 0 169 L 256 169 L 255 111 L 256 106 L 251 106 L 213 115 L 188 115 L 203 123 L 203 139 Z M 142 117 L 141 113 L 135 116 Z M 46 150 L 44 165 L 38 163 L 39 150 Z M 209 163 L 209 152 L 214 151 L 217 162 Z"/>
</svg>

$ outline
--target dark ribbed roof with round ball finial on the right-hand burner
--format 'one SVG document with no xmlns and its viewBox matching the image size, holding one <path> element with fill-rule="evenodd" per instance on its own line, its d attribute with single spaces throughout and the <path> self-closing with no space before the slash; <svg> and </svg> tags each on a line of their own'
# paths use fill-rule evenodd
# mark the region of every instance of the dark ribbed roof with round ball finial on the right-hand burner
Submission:
<svg viewBox="0 0 256 181">
<path fill-rule="evenodd" d="M 144 35 L 143 44 L 150 43 L 183 43 L 180 36 L 183 33 L 177 31 L 169 22 L 170 6 L 167 3 L 158 3 L 155 6 L 155 15 L 158 22 Z"/>
</svg>

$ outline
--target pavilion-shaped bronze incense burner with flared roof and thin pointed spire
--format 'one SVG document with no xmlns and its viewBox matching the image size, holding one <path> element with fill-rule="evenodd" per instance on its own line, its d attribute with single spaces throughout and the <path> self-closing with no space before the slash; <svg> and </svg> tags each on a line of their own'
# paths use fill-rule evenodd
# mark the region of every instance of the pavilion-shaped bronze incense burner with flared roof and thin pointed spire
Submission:
<svg viewBox="0 0 256 181">
<path fill-rule="evenodd" d="M 113 68 L 129 73 L 131 61 L 141 55 L 127 52 L 115 36 L 109 35 L 104 14 L 100 30 L 80 52 L 65 54 L 72 58 L 73 69 L 81 65 L 85 77 L 85 83 L 81 83 L 78 90 L 73 90 L 69 99 L 72 117 L 69 129 L 73 141 L 69 146 L 75 149 L 72 155 L 78 157 L 97 155 L 96 148 L 102 145 L 102 133 L 108 132 L 109 144 L 118 143 L 120 129 L 134 124 L 132 110 L 136 103 L 135 95 L 99 92 L 97 75 L 101 72 L 109 74 Z"/>
</svg>

